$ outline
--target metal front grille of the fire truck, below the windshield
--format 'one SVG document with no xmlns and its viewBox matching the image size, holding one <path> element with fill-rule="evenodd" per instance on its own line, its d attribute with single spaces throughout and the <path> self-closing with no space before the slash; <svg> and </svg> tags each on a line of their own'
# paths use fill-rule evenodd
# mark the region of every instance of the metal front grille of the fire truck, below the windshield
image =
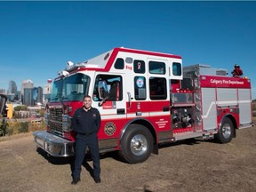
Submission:
<svg viewBox="0 0 256 192">
<path fill-rule="evenodd" d="M 62 108 L 50 108 L 48 127 L 50 132 L 63 136 L 62 129 Z"/>
</svg>

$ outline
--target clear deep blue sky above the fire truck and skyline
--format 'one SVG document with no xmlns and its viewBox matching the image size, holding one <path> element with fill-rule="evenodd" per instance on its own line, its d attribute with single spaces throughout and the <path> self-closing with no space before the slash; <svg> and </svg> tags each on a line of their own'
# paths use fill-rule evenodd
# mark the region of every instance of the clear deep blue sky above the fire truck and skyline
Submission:
<svg viewBox="0 0 256 192">
<path fill-rule="evenodd" d="M 67 61 L 124 46 L 178 54 L 183 65 L 239 64 L 256 98 L 256 2 L 0 2 L 0 88 L 43 86 Z"/>
</svg>

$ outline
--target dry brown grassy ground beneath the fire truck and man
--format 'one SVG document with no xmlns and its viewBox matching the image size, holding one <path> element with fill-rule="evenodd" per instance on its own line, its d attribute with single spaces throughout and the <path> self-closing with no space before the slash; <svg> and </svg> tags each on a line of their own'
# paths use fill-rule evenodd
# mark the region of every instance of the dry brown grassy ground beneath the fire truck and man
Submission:
<svg viewBox="0 0 256 192">
<path fill-rule="evenodd" d="M 84 167 L 70 185 L 70 158 L 36 151 L 32 134 L 0 142 L 0 191 L 203 192 L 256 191 L 256 129 L 238 130 L 228 144 L 183 141 L 162 146 L 142 164 L 125 164 L 115 153 L 101 156 L 101 183 Z M 85 164 L 86 165 L 86 164 Z M 87 164 L 88 165 L 88 164 Z"/>
</svg>

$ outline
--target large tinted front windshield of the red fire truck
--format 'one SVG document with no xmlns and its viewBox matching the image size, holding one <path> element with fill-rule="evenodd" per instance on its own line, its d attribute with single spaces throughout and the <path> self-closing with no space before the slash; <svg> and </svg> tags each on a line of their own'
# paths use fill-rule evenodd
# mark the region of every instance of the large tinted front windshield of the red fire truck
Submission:
<svg viewBox="0 0 256 192">
<path fill-rule="evenodd" d="M 90 77 L 84 74 L 63 77 L 54 81 L 50 101 L 83 100 L 87 94 Z"/>
</svg>

